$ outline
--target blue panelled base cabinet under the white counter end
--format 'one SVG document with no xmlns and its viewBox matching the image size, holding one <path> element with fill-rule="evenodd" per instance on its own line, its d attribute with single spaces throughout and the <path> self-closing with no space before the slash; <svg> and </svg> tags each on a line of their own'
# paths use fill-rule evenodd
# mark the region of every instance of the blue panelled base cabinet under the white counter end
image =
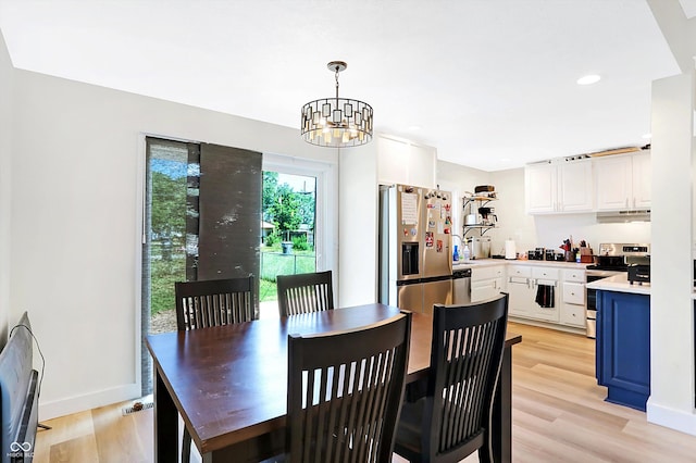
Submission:
<svg viewBox="0 0 696 463">
<path fill-rule="evenodd" d="M 645 411 L 650 396 L 650 297 L 597 291 L 597 383 L 607 402 Z"/>
</svg>

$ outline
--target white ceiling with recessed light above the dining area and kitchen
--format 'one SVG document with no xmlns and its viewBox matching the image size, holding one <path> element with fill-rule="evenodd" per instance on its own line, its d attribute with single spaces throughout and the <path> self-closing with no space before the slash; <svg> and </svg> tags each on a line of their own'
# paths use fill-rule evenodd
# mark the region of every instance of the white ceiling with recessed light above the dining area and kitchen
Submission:
<svg viewBox="0 0 696 463">
<path fill-rule="evenodd" d="M 648 143 L 680 74 L 645 0 L 0 0 L 0 30 L 17 68 L 289 127 L 347 61 L 376 132 L 485 171 Z"/>
</svg>

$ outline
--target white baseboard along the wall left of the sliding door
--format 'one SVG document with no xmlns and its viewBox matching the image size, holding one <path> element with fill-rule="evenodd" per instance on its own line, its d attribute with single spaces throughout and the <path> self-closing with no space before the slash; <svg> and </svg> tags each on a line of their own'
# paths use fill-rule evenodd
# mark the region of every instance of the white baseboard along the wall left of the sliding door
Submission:
<svg viewBox="0 0 696 463">
<path fill-rule="evenodd" d="M 129 384 L 83 396 L 53 400 L 50 402 L 44 402 L 39 398 L 39 421 L 47 421 L 59 416 L 84 412 L 98 406 L 135 399 L 140 396 L 140 386 L 137 384 Z"/>
</svg>

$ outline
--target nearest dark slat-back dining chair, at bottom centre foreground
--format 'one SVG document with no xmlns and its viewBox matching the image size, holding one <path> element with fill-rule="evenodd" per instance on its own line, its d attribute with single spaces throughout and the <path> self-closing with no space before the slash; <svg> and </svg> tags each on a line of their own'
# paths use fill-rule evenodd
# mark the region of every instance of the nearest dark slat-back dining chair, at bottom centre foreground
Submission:
<svg viewBox="0 0 696 463">
<path fill-rule="evenodd" d="M 391 461 L 410 331 L 411 314 L 401 313 L 355 330 L 288 336 L 284 461 Z"/>
</svg>

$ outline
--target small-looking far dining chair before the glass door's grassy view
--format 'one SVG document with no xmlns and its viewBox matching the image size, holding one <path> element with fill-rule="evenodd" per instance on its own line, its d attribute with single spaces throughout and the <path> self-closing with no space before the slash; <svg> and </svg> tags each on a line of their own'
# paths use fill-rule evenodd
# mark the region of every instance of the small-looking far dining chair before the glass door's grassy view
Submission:
<svg viewBox="0 0 696 463">
<path fill-rule="evenodd" d="M 334 309 L 332 272 L 276 276 L 281 316 Z"/>
</svg>

